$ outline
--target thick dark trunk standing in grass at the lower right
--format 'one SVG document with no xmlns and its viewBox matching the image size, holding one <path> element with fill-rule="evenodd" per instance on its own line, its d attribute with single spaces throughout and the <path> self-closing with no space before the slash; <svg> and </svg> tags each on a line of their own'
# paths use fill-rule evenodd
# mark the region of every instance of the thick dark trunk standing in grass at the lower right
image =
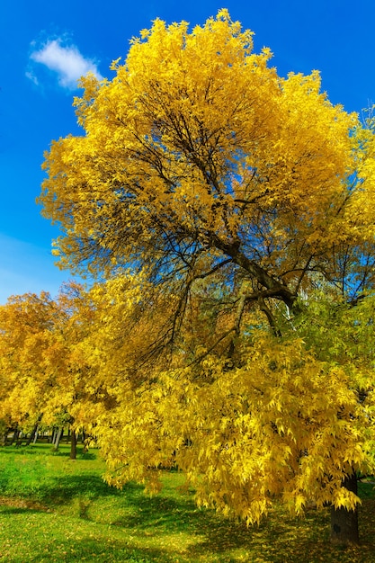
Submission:
<svg viewBox="0 0 375 563">
<path fill-rule="evenodd" d="M 357 494 L 357 476 L 354 472 L 344 478 L 343 487 Z M 344 545 L 359 543 L 358 509 L 331 507 L 331 541 Z"/>
</svg>

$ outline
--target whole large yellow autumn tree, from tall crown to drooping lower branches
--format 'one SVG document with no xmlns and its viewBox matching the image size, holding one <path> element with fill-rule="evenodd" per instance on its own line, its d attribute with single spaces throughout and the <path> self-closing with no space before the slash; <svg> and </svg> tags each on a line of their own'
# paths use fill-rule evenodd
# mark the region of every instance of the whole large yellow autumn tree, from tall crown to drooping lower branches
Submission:
<svg viewBox="0 0 375 563">
<path fill-rule="evenodd" d="M 141 276 L 152 337 L 117 341 L 137 369 L 119 371 L 98 424 L 118 481 L 152 479 L 174 452 L 205 505 L 254 522 L 276 496 L 297 514 L 331 503 L 333 538 L 356 541 L 372 371 L 301 319 L 317 290 L 354 316 L 371 299 L 373 124 L 271 57 L 226 10 L 192 31 L 156 20 L 111 81 L 82 79 L 85 135 L 52 143 L 40 203 L 62 227 L 60 266 Z M 354 348 L 356 322 L 339 338 Z M 103 311 L 107 335 L 119 323 Z M 169 363 L 153 369 L 156 352 Z"/>
</svg>

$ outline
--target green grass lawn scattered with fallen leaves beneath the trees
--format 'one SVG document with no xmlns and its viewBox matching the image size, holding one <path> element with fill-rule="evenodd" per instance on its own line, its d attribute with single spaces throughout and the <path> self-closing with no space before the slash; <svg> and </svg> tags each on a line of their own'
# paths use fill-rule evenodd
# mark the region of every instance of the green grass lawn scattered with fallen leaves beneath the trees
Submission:
<svg viewBox="0 0 375 563">
<path fill-rule="evenodd" d="M 375 500 L 362 485 L 362 545 L 329 544 L 329 514 L 311 510 L 295 521 L 275 509 L 246 529 L 200 510 L 165 473 L 159 496 L 130 484 L 122 491 L 102 479 L 103 461 L 90 451 L 68 458 L 47 444 L 0 448 L 0 560 L 111 563 L 375 563 Z"/>
</svg>

